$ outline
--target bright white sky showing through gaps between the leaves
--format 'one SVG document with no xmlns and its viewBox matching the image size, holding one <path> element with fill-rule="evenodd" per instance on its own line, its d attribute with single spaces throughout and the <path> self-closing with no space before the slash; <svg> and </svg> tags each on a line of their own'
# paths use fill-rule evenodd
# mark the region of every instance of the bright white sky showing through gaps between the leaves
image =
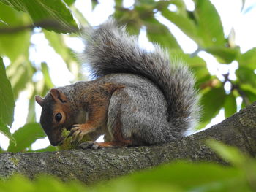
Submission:
<svg viewBox="0 0 256 192">
<path fill-rule="evenodd" d="M 94 9 L 94 12 L 91 12 L 91 1 L 90 0 L 77 0 L 75 6 L 80 9 L 80 12 L 83 13 L 85 18 L 89 21 L 92 26 L 99 25 L 104 22 L 109 15 L 113 14 L 114 9 L 114 1 L 112 0 L 101 0 L 100 4 Z M 241 47 L 242 53 L 246 52 L 246 50 L 251 49 L 252 47 L 256 47 L 256 27 L 254 25 L 256 20 L 256 9 L 252 9 L 252 11 L 246 12 L 248 7 L 254 5 L 256 7 L 255 0 L 246 0 L 245 8 L 243 12 L 241 11 L 241 0 L 211 0 L 214 6 L 217 8 L 219 15 L 222 20 L 222 24 L 225 31 L 225 36 L 227 37 L 230 34 L 232 28 L 234 28 L 236 32 L 236 45 Z M 192 0 L 185 0 L 187 7 L 189 10 L 193 10 L 194 6 Z M 124 6 L 130 7 L 133 4 L 133 1 L 124 1 Z M 170 9 L 175 9 L 176 7 L 169 7 Z M 197 49 L 197 45 L 191 39 L 189 39 L 185 34 L 183 34 L 173 23 L 170 23 L 168 20 L 163 18 L 161 15 L 157 15 L 157 18 L 160 22 L 165 23 L 166 26 L 170 28 L 170 31 L 176 36 L 178 39 L 178 43 L 181 45 L 182 49 L 185 53 L 193 53 Z M 151 43 L 146 39 L 145 31 L 141 30 L 139 37 L 140 44 L 143 47 L 151 48 Z M 34 61 L 36 65 L 40 65 L 42 61 L 46 61 L 50 66 L 50 76 L 53 80 L 54 85 L 62 86 L 68 85 L 70 81 L 73 80 L 73 75 L 68 71 L 64 61 L 61 59 L 59 55 L 55 53 L 52 47 L 48 45 L 48 41 L 44 38 L 43 34 L 34 34 L 31 38 L 31 42 L 36 45 L 36 48 L 30 49 L 30 59 Z M 67 45 L 70 45 L 72 49 L 77 52 L 83 50 L 83 44 L 78 38 L 67 38 Z M 47 54 L 47 57 L 45 56 Z M 208 64 L 208 69 L 211 74 L 217 75 L 220 80 L 222 80 L 222 74 L 230 72 L 231 78 L 235 79 L 235 69 L 238 64 L 233 62 L 230 65 L 220 65 L 214 57 L 211 55 L 201 52 L 199 53 L 200 57 L 206 60 Z M 4 63 L 8 63 L 8 59 L 4 58 Z M 61 69 L 61 77 L 56 74 L 56 71 Z M 86 73 L 86 72 L 85 72 Z M 41 79 L 42 74 L 39 72 L 35 77 L 35 79 Z M 11 132 L 15 132 L 19 127 L 23 126 L 26 123 L 26 115 L 27 111 L 24 110 L 28 107 L 29 101 L 27 92 L 23 92 L 20 94 L 18 101 L 16 102 L 15 107 L 15 121 L 12 124 Z M 238 99 L 238 103 L 241 103 L 241 99 Z M 40 115 L 40 107 L 38 104 L 37 108 L 37 121 L 39 122 Z M 211 121 L 211 125 L 221 122 L 224 119 L 224 112 L 221 111 L 217 118 Z M 0 134 L 0 146 L 4 150 L 7 150 L 9 145 L 9 140 L 7 137 L 4 137 Z M 44 148 L 50 145 L 48 142 L 48 138 L 38 139 L 32 145 L 34 150 L 39 148 Z"/>
</svg>

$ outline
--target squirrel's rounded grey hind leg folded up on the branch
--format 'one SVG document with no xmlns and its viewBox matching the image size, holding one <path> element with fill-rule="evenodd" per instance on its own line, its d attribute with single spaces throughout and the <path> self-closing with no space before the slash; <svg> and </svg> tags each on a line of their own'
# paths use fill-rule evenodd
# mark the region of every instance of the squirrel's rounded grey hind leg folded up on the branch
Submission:
<svg viewBox="0 0 256 192">
<path fill-rule="evenodd" d="M 129 146 L 165 142 L 166 110 L 157 94 L 136 87 L 115 91 L 108 107 L 110 141 Z"/>
</svg>

